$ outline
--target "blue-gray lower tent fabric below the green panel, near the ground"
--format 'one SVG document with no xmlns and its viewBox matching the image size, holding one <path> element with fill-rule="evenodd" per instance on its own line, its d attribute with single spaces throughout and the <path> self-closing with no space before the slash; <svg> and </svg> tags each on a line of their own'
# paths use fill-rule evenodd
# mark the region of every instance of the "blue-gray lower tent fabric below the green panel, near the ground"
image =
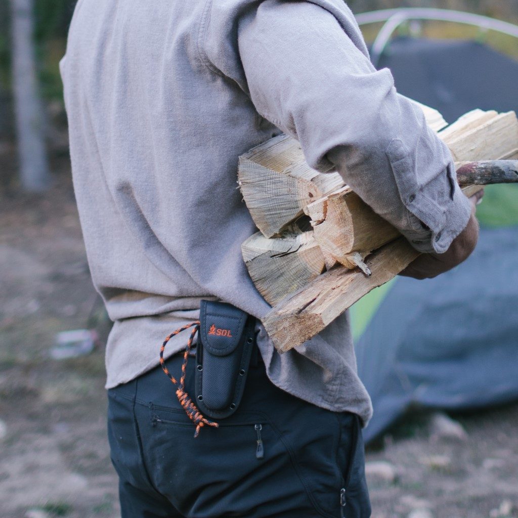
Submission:
<svg viewBox="0 0 518 518">
<path fill-rule="evenodd" d="M 400 277 L 356 343 L 372 440 L 410 404 L 468 409 L 518 398 L 518 227 L 483 229 L 461 266 Z"/>
</svg>

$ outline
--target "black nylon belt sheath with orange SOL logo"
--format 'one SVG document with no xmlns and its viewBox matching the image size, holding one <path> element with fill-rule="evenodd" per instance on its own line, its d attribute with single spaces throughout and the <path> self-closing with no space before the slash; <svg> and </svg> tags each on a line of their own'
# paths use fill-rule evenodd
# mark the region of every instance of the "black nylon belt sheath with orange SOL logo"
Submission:
<svg viewBox="0 0 518 518">
<path fill-rule="evenodd" d="M 196 347 L 196 406 L 212 419 L 241 401 L 254 346 L 255 318 L 222 302 L 202 300 Z"/>
</svg>

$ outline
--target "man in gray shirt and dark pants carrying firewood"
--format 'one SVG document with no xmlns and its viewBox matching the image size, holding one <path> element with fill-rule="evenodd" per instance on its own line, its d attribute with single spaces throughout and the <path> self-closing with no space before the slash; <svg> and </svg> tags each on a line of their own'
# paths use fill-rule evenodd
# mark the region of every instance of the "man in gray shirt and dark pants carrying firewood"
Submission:
<svg viewBox="0 0 518 518">
<path fill-rule="evenodd" d="M 106 386 L 122 515 L 369 516 L 371 404 L 348 315 L 274 350 L 240 253 L 255 227 L 237 160 L 291 134 L 312 167 L 337 169 L 426 253 L 405 272 L 424 278 L 462 262 L 478 236 L 448 149 L 372 67 L 341 0 L 79 0 L 61 73 L 84 240 L 114 321 Z M 260 355 L 239 408 L 194 438 L 158 352 L 202 299 L 252 315 Z M 176 380 L 188 336 L 165 349 Z M 180 399 L 194 399 L 195 363 Z"/>
</svg>

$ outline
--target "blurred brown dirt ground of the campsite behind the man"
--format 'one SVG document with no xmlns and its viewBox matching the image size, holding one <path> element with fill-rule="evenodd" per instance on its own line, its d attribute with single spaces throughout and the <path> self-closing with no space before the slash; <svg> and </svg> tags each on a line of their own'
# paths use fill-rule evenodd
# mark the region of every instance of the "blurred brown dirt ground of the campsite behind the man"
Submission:
<svg viewBox="0 0 518 518">
<path fill-rule="evenodd" d="M 109 330 L 92 287 L 65 154 L 43 196 L 12 187 L 0 148 L 0 518 L 119 515 L 105 436 L 103 346 L 56 361 L 57 332 Z M 413 413 L 367 453 L 374 518 L 518 516 L 518 404 L 454 415 L 435 434 Z M 381 463 L 381 464 L 380 464 Z"/>
</svg>

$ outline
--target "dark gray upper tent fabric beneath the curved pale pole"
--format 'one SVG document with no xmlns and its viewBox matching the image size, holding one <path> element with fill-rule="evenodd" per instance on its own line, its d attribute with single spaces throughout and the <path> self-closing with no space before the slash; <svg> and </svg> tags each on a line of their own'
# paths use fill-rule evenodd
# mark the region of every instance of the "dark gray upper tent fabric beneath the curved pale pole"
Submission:
<svg viewBox="0 0 518 518">
<path fill-rule="evenodd" d="M 518 112 L 518 62 L 479 42 L 398 37 L 380 58 L 384 67 L 398 92 L 449 123 L 474 108 Z"/>
</svg>

